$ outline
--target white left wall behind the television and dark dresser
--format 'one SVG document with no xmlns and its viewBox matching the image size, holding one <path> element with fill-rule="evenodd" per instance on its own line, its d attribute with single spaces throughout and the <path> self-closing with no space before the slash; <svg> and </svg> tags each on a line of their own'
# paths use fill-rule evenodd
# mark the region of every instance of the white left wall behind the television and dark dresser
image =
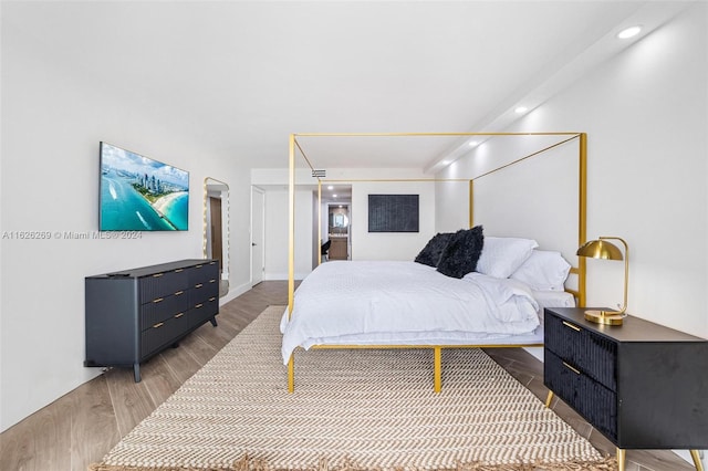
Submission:
<svg viewBox="0 0 708 471">
<path fill-rule="evenodd" d="M 27 25 L 3 22 L 0 426 L 2 430 L 97 376 L 84 368 L 84 278 L 202 257 L 202 182 L 230 187 L 232 292 L 248 286 L 248 172 L 160 109 L 106 90 L 91 67 L 65 70 Z M 46 39 L 51 41 L 51 38 Z M 98 224 L 98 142 L 190 171 L 189 231 L 70 240 Z M 49 231 L 50 240 L 17 240 Z"/>
</svg>

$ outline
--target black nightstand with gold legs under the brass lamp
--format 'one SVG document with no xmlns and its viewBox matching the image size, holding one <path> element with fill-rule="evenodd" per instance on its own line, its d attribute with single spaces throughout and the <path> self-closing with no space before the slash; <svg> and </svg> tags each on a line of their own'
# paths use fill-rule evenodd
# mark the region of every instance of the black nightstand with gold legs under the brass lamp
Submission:
<svg viewBox="0 0 708 471">
<path fill-rule="evenodd" d="M 543 384 L 617 447 L 708 448 L 708 341 L 637 317 L 608 326 L 585 308 L 544 311 Z"/>
</svg>

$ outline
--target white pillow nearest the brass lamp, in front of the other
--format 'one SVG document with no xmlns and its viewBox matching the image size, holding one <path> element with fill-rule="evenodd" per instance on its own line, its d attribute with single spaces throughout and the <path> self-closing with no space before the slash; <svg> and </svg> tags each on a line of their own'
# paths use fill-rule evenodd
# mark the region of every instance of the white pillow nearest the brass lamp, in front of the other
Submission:
<svg viewBox="0 0 708 471">
<path fill-rule="evenodd" d="M 561 252 L 534 250 L 511 276 L 537 291 L 563 291 L 571 264 Z"/>
</svg>

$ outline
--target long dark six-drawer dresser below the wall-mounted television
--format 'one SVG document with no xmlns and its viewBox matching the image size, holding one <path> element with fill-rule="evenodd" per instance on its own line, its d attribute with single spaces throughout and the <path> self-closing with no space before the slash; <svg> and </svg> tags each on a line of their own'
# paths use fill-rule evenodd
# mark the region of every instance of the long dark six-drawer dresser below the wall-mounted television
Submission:
<svg viewBox="0 0 708 471">
<path fill-rule="evenodd" d="M 219 263 L 180 260 L 85 279 L 84 366 L 132 366 L 207 321 L 217 325 Z"/>
</svg>

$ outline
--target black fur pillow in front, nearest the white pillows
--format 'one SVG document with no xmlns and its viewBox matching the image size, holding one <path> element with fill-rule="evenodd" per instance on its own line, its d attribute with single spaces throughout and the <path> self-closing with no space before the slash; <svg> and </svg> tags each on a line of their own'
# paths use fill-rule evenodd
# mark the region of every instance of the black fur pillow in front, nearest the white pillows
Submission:
<svg viewBox="0 0 708 471">
<path fill-rule="evenodd" d="M 438 271 L 447 276 L 462 278 L 477 269 L 477 261 L 482 253 L 485 236 L 481 226 L 472 229 L 460 229 L 455 232 L 442 250 Z"/>
</svg>

